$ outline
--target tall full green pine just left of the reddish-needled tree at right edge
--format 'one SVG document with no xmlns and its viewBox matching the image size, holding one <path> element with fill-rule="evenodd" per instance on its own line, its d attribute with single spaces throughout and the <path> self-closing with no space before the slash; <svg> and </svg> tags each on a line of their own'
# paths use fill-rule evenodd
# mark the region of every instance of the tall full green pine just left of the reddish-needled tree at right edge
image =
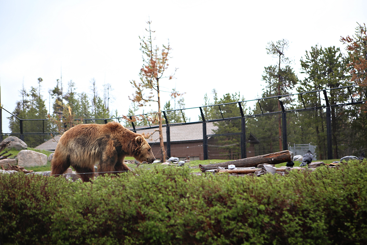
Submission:
<svg viewBox="0 0 367 245">
<path fill-rule="evenodd" d="M 301 59 L 301 66 L 306 78 L 300 83 L 298 91 L 312 91 L 321 89 L 332 89 L 328 96 L 331 105 L 343 103 L 348 100 L 348 92 L 346 89 L 334 89 L 340 86 L 346 86 L 348 82 L 348 71 L 346 64 L 348 59 L 344 57 L 339 48 L 333 47 L 312 47 L 311 51 L 306 51 L 305 58 Z M 312 107 L 318 107 L 323 104 L 324 94 L 305 94 L 304 102 Z M 307 115 L 302 118 L 303 127 L 308 130 L 315 128 L 315 138 L 313 142 L 317 143 L 320 156 L 326 154 L 326 145 L 323 144 L 326 139 L 326 115 L 321 110 L 303 113 Z M 343 122 L 346 119 L 346 111 L 344 108 L 331 107 L 331 123 L 332 123 L 332 138 L 334 146 L 334 158 L 339 158 L 339 141 L 344 138 L 345 130 Z M 308 123 L 308 124 L 306 124 Z M 313 125 L 310 127 L 310 125 Z M 312 130 L 313 131 L 313 130 Z M 312 135 L 312 134 L 311 134 Z"/>
</svg>

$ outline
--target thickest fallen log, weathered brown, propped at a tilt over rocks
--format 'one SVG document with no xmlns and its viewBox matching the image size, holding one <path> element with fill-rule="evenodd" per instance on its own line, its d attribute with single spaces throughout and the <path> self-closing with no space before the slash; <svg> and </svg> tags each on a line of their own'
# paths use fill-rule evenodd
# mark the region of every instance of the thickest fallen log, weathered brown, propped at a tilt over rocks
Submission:
<svg viewBox="0 0 367 245">
<path fill-rule="evenodd" d="M 207 167 L 212 169 L 212 167 L 228 167 L 228 165 L 233 164 L 236 167 L 256 167 L 259 164 L 268 163 L 268 164 L 278 164 L 283 162 L 290 162 L 291 154 L 288 150 L 274 152 L 261 156 L 254 156 L 249 158 L 243 158 L 235 161 L 221 162 L 221 163 L 212 163 L 212 164 L 199 164 L 199 167 L 202 172 L 205 172 Z"/>
</svg>

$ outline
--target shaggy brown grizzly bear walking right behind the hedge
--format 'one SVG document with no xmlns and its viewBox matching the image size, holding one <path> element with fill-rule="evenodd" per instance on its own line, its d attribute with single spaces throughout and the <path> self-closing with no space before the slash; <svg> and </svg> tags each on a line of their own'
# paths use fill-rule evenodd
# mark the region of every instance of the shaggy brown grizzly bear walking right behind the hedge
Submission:
<svg viewBox="0 0 367 245">
<path fill-rule="evenodd" d="M 63 174 L 71 165 L 83 182 L 97 172 L 128 171 L 125 156 L 133 156 L 139 162 L 152 163 L 156 158 L 152 148 L 141 134 L 126 129 L 120 123 L 80 124 L 61 136 L 51 161 L 51 175 Z"/>
</svg>

